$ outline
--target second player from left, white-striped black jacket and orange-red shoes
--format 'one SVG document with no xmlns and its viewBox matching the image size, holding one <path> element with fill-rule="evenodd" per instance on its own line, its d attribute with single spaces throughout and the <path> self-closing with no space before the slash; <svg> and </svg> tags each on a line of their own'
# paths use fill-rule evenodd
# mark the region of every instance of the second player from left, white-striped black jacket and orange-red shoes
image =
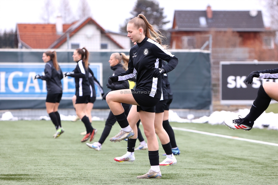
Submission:
<svg viewBox="0 0 278 185">
<path fill-rule="evenodd" d="M 89 84 L 89 52 L 85 49 L 76 49 L 73 52 L 73 61 L 77 62 L 75 69 L 72 72 L 68 72 L 65 76 L 75 78 L 75 110 L 77 116 L 81 119 L 86 127 L 87 134 L 81 139 L 81 142 L 85 142 L 90 138 L 92 141 L 97 133 L 97 129 L 93 129 L 89 118 L 86 116 L 87 103 L 90 102 L 91 89 Z"/>
</svg>

